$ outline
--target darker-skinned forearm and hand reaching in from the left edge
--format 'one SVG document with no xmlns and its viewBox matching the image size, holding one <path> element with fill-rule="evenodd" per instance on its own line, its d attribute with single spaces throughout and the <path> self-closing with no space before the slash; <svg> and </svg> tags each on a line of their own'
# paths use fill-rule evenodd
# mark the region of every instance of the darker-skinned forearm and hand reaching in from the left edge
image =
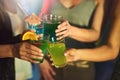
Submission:
<svg viewBox="0 0 120 80">
<path fill-rule="evenodd" d="M 42 51 L 34 45 L 27 42 L 21 42 L 16 44 L 0 45 L 0 58 L 16 57 L 32 63 L 38 63 L 32 60 L 42 59 Z"/>
</svg>

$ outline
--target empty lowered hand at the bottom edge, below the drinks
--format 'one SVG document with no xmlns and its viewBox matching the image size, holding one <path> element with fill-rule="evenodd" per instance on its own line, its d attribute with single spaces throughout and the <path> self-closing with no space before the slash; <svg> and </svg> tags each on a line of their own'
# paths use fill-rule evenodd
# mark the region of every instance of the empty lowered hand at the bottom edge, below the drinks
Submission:
<svg viewBox="0 0 120 80">
<path fill-rule="evenodd" d="M 53 76 L 56 75 L 56 73 L 47 60 L 44 59 L 44 62 L 41 63 L 39 67 L 44 80 L 54 80 Z"/>
</svg>

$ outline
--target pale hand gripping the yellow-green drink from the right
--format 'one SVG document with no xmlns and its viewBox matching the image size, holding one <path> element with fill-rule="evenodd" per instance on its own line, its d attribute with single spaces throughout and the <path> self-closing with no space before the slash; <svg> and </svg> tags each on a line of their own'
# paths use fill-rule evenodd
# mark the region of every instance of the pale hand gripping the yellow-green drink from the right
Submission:
<svg viewBox="0 0 120 80">
<path fill-rule="evenodd" d="M 76 49 L 69 49 L 65 52 L 64 55 L 67 62 L 73 62 L 78 60 L 78 54 L 76 53 Z"/>
</svg>

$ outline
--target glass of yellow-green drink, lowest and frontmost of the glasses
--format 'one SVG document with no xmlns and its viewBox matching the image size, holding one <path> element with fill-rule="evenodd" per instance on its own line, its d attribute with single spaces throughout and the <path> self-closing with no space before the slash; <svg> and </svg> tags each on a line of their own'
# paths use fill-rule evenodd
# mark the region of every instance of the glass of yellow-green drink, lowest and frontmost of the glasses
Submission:
<svg viewBox="0 0 120 80">
<path fill-rule="evenodd" d="M 60 42 L 51 42 L 48 46 L 48 51 L 53 59 L 53 63 L 58 68 L 66 65 L 65 50 L 65 44 Z"/>
</svg>

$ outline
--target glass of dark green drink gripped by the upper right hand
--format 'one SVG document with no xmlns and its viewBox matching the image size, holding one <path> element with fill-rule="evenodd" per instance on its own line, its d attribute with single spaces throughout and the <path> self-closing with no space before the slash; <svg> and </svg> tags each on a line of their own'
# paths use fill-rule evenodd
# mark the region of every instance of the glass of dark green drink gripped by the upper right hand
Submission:
<svg viewBox="0 0 120 80">
<path fill-rule="evenodd" d="M 61 16 L 56 16 L 53 14 L 43 15 L 44 32 L 50 34 L 50 39 L 54 38 L 56 41 L 55 30 L 62 21 L 63 19 Z"/>
</svg>

